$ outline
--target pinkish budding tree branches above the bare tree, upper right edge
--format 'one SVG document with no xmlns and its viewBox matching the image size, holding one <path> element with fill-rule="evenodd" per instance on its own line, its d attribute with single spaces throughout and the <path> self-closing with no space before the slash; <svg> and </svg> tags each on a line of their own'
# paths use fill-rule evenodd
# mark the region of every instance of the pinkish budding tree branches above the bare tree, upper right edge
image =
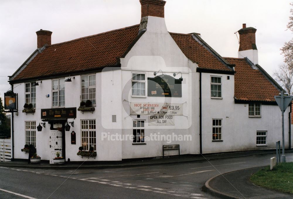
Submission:
<svg viewBox="0 0 293 199">
<path fill-rule="evenodd" d="M 293 6 L 293 2 L 290 3 Z M 287 30 L 293 32 L 293 9 L 290 9 L 291 16 L 289 16 L 289 22 L 287 24 Z M 293 39 L 288 42 L 285 42 L 284 46 L 280 49 L 281 54 L 284 56 L 284 62 L 290 67 L 293 68 Z"/>
</svg>

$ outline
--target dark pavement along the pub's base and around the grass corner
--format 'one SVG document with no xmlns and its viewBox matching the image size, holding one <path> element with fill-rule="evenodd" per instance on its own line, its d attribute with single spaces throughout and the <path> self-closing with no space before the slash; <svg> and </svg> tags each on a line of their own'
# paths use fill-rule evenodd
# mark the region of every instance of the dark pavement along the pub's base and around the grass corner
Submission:
<svg viewBox="0 0 293 199">
<path fill-rule="evenodd" d="M 292 150 L 286 150 L 286 153 L 293 153 Z M 105 168 L 123 168 L 123 167 L 138 167 L 149 165 L 170 165 L 181 164 L 187 162 L 203 162 L 207 160 L 235 158 L 252 155 L 272 154 L 275 155 L 275 150 L 258 150 L 258 151 L 240 151 L 229 153 L 215 153 L 204 155 L 180 155 L 167 156 L 165 158 L 146 158 L 146 159 L 131 159 L 117 162 L 67 162 L 64 165 L 50 165 L 48 161 L 42 161 L 39 164 L 28 164 L 27 161 L 8 161 L 0 162 L 0 167 L 20 167 L 20 168 L 36 168 L 36 169 L 105 169 Z M 204 191 L 211 193 L 220 198 L 293 198 L 291 194 L 271 191 L 262 187 L 255 186 L 249 181 L 251 174 L 256 172 L 261 167 L 236 170 L 220 174 L 209 179 L 205 183 Z"/>
</svg>

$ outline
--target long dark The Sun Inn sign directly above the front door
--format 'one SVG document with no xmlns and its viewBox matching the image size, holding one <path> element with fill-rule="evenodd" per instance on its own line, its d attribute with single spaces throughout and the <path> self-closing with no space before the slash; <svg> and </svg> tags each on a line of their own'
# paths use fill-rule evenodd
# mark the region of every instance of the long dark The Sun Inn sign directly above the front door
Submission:
<svg viewBox="0 0 293 199">
<path fill-rule="evenodd" d="M 41 109 L 41 119 L 65 119 L 65 118 L 76 118 L 76 107 Z"/>
</svg>

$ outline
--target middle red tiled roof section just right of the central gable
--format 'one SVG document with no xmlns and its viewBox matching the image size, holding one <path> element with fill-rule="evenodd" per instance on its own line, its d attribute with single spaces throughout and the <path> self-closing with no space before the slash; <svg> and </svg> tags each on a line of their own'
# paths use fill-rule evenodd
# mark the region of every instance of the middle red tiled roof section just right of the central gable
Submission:
<svg viewBox="0 0 293 199">
<path fill-rule="evenodd" d="M 231 69 L 222 63 L 216 56 L 197 42 L 192 34 L 178 34 L 171 32 L 170 34 L 185 56 L 197 63 L 199 68 L 231 71 Z"/>
</svg>

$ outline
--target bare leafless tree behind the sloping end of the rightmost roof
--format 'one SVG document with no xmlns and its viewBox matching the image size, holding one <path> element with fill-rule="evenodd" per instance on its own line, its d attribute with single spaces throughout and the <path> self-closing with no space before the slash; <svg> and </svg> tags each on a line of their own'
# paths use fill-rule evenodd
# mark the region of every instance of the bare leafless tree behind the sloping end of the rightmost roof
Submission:
<svg viewBox="0 0 293 199">
<path fill-rule="evenodd" d="M 293 68 L 284 63 L 279 66 L 278 71 L 274 72 L 274 77 L 288 94 L 291 95 L 293 91 Z"/>
</svg>

